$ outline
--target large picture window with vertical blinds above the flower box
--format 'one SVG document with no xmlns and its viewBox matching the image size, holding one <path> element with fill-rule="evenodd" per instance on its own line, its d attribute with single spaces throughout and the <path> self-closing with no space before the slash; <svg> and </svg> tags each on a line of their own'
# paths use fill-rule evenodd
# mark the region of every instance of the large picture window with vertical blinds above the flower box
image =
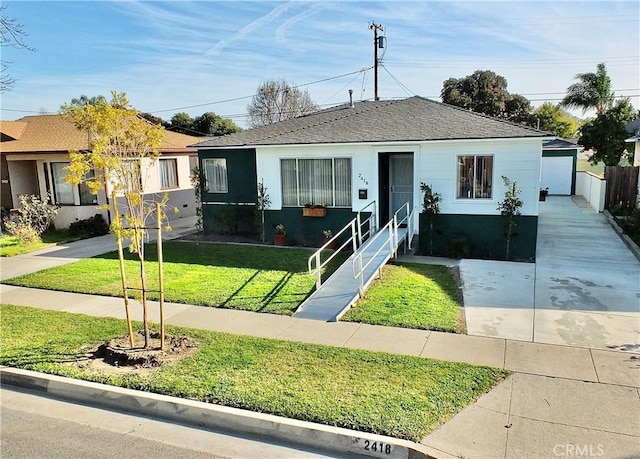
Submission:
<svg viewBox="0 0 640 459">
<path fill-rule="evenodd" d="M 351 207 L 351 158 L 282 159 L 282 204 Z"/>
</svg>

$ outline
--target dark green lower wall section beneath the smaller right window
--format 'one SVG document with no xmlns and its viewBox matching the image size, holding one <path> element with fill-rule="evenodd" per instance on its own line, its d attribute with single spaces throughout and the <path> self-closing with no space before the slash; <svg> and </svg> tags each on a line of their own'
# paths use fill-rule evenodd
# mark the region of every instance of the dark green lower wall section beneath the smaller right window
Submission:
<svg viewBox="0 0 640 459">
<path fill-rule="evenodd" d="M 534 261 L 538 237 L 538 217 L 517 218 L 517 236 L 511 240 L 510 259 Z M 429 223 L 420 214 L 418 252 L 429 255 Z M 483 258 L 504 260 L 504 218 L 500 215 L 453 215 L 436 217 L 433 255 L 451 258 Z"/>
</svg>

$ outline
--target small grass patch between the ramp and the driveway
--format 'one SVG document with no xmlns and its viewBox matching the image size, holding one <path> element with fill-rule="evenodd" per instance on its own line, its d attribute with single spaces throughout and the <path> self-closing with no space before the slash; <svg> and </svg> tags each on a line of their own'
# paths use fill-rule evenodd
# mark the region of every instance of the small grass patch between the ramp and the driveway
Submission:
<svg viewBox="0 0 640 459">
<path fill-rule="evenodd" d="M 364 299 L 341 320 L 455 332 L 460 311 L 457 288 L 445 266 L 386 265 Z"/>
</svg>

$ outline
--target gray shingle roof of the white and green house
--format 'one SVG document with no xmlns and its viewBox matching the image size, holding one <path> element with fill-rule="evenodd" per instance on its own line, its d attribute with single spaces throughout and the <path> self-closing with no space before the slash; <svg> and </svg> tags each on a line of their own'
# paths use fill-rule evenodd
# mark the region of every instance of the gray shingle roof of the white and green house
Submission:
<svg viewBox="0 0 640 459">
<path fill-rule="evenodd" d="M 423 97 L 358 102 L 216 137 L 198 148 L 548 137 L 550 134 Z"/>
</svg>

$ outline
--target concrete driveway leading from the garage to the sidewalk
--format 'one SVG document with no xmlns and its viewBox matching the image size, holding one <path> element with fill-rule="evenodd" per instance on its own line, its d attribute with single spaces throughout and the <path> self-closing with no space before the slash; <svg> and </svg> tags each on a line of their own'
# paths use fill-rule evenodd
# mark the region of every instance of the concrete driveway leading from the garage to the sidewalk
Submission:
<svg viewBox="0 0 640 459">
<path fill-rule="evenodd" d="M 462 260 L 470 335 L 640 349 L 640 261 L 579 197 L 540 203 L 536 263 Z"/>
</svg>

